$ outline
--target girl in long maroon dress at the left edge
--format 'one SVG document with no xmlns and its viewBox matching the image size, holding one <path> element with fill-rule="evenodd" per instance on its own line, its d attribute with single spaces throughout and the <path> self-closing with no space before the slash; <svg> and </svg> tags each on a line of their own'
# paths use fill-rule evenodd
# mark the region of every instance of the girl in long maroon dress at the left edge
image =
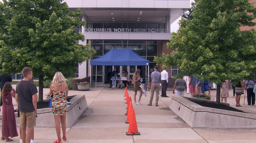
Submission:
<svg viewBox="0 0 256 143">
<path fill-rule="evenodd" d="M 1 98 L 3 101 L 1 140 L 5 139 L 5 142 L 9 142 L 13 141 L 13 139 L 9 137 L 13 138 L 18 136 L 14 107 L 12 104 L 12 98 L 15 98 L 15 91 L 10 82 L 4 84 L 1 90 Z"/>
</svg>

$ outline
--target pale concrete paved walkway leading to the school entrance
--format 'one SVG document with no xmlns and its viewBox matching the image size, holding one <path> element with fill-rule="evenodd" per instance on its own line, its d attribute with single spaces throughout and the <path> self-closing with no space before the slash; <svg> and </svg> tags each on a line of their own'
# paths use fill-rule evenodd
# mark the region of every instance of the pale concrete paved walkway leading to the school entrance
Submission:
<svg viewBox="0 0 256 143">
<path fill-rule="evenodd" d="M 111 89 L 108 84 L 93 85 L 91 91 L 69 91 L 69 95 L 85 94 L 88 109 L 80 116 L 73 127 L 67 128 L 69 143 L 255 143 L 256 129 L 248 128 L 190 128 L 180 117 L 168 107 L 172 89 L 168 89 L 168 98 L 159 97 L 158 107 L 147 106 L 147 97 L 142 97 L 142 105 L 134 105 L 138 131 L 140 136 L 126 136 L 129 124 L 126 124 L 126 106 L 124 89 Z M 44 93 L 49 89 L 44 89 Z M 129 96 L 133 97 L 133 88 L 128 88 Z M 227 102 L 235 107 L 235 98 L 229 90 Z M 211 92 L 212 96 L 216 91 Z M 137 100 L 138 100 L 137 95 Z M 185 96 L 190 96 L 186 94 Z M 256 112 L 256 106 L 248 106 L 244 96 L 241 96 L 238 109 L 250 109 Z M 15 103 L 15 102 L 14 102 Z M 15 105 L 14 105 L 15 106 Z M 230 121 L 232 122 L 232 121 Z M 57 139 L 55 128 L 35 127 L 35 140 L 39 143 L 52 143 Z M 19 137 L 13 138 L 19 142 Z M 0 141 L 1 142 L 1 141 Z M 3 141 L 2 141 L 3 142 Z"/>
</svg>

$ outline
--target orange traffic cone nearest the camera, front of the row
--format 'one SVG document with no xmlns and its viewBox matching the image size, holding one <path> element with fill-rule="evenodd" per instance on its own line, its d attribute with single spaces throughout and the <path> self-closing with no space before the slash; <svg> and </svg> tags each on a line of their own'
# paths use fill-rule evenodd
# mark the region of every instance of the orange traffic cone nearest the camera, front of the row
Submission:
<svg viewBox="0 0 256 143">
<path fill-rule="evenodd" d="M 126 135 L 140 135 L 140 132 L 138 132 L 134 109 L 131 109 L 131 120 L 129 123 L 128 132 L 126 132 Z"/>
</svg>

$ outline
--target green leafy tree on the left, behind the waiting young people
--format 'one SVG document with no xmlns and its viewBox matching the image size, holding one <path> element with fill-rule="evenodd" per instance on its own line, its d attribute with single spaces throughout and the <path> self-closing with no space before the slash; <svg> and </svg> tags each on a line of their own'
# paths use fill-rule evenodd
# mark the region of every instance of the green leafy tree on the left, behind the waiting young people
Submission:
<svg viewBox="0 0 256 143">
<path fill-rule="evenodd" d="M 51 78 L 57 71 L 74 76 L 76 64 L 96 53 L 78 43 L 84 35 L 73 29 L 85 25 L 79 19 L 82 11 L 69 11 L 62 0 L 3 0 L 0 9 L 4 15 L 0 19 L 7 21 L 0 31 L 0 73 L 31 67 L 33 75 L 39 75 L 39 101 L 43 101 L 44 76 Z"/>
</svg>

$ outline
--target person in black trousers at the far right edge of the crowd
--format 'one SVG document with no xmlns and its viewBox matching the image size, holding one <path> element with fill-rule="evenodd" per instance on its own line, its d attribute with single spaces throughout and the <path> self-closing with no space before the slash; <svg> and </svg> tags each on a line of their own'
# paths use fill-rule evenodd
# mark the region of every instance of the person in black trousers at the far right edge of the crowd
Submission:
<svg viewBox="0 0 256 143">
<path fill-rule="evenodd" d="M 248 105 L 254 105 L 255 104 L 255 93 L 253 92 L 253 88 L 255 85 L 254 80 L 246 80 L 245 81 L 245 89 L 247 92 L 247 103 Z"/>
</svg>

